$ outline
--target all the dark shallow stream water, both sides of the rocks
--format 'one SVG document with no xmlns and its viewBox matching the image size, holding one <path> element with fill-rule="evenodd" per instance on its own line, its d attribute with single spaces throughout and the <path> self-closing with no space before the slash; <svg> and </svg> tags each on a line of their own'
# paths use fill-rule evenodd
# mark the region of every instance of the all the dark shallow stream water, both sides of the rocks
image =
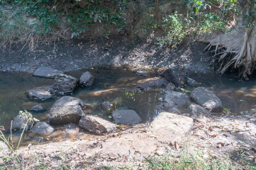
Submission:
<svg viewBox="0 0 256 170">
<path fill-rule="evenodd" d="M 80 75 L 87 70 L 67 72 L 79 79 Z M 94 68 L 89 71 L 95 77 L 95 84 L 89 88 L 77 87 L 70 96 L 80 98 L 91 113 L 113 121 L 111 113 L 104 112 L 100 104 L 109 101 L 114 110 L 135 110 L 143 120 L 152 121 L 158 113 L 163 111 L 163 95 L 165 87 L 154 87 L 150 90 L 140 90 L 136 86 L 158 75 L 150 73 L 150 77 L 137 75 L 130 69 L 125 68 Z M 202 83 L 202 86 L 211 88 L 223 102 L 223 106 L 234 114 L 256 108 L 256 79 L 239 81 L 235 74 L 220 76 L 215 73 L 192 73 L 192 79 Z M 33 101 L 25 95 L 26 90 L 52 85 L 54 79 L 34 77 L 30 73 L 0 72 L 0 126 L 4 126 L 8 134 L 11 120 L 20 110 L 28 110 L 40 121 L 46 121 L 52 104 L 59 99 L 54 97 L 47 101 Z M 191 88 L 189 90 L 192 90 Z M 188 94 L 189 95 L 189 94 Z M 36 104 L 41 104 L 45 111 L 33 112 L 30 109 Z M 186 112 L 186 110 L 184 111 Z M 57 126 L 54 126 L 58 128 Z M 19 137 L 19 132 L 13 133 Z M 56 133 L 58 136 L 58 132 Z M 30 141 L 29 137 L 23 141 Z M 55 139 L 57 140 L 57 139 Z M 38 141 L 37 139 L 35 141 Z"/>
</svg>

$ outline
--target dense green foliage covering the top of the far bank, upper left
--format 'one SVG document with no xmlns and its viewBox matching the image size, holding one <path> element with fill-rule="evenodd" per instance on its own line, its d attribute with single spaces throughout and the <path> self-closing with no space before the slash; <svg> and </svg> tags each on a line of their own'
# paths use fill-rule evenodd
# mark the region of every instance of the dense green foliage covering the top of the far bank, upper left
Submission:
<svg viewBox="0 0 256 170">
<path fill-rule="evenodd" d="M 9 14 L 5 14 L 2 12 L 4 8 L 0 7 L 0 28 L 4 30 L 1 37 L 10 40 L 24 36 L 24 32 L 52 35 L 67 30 L 73 38 L 87 31 L 90 24 L 115 25 L 119 32 L 126 26 L 126 0 L 107 3 L 104 0 L 89 0 L 83 7 L 79 1 L 69 0 L 2 0 L 0 3 L 11 9 Z M 37 20 L 28 23 L 26 16 Z M 104 29 L 107 32 L 107 28 Z"/>
</svg>

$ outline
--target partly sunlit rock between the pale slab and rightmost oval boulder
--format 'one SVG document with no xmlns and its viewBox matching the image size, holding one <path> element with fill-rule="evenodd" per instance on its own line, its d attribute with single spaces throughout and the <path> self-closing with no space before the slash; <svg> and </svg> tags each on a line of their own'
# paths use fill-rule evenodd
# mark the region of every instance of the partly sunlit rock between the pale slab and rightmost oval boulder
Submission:
<svg viewBox="0 0 256 170">
<path fill-rule="evenodd" d="M 190 117 L 199 122 L 206 122 L 208 118 L 211 117 L 210 113 L 205 108 L 194 103 L 187 107 L 187 113 L 189 113 Z"/>
</svg>

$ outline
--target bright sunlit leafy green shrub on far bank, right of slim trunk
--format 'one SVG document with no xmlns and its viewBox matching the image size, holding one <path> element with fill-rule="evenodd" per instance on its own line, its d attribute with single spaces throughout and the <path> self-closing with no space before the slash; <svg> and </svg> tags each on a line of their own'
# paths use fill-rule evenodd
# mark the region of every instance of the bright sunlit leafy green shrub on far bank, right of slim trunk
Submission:
<svg viewBox="0 0 256 170">
<path fill-rule="evenodd" d="M 182 23 L 181 16 L 182 15 L 175 12 L 163 20 L 163 27 L 165 27 L 167 35 L 157 38 L 158 42 L 156 42 L 156 44 L 158 44 L 160 48 L 163 46 L 176 47 L 176 45 L 180 44 L 185 38 L 186 26 Z"/>
</svg>

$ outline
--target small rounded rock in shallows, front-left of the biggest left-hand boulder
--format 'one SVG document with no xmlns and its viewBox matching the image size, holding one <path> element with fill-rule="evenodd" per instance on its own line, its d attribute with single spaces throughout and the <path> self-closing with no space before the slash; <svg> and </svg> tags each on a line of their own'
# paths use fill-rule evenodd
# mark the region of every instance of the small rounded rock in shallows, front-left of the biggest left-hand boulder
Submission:
<svg viewBox="0 0 256 170">
<path fill-rule="evenodd" d="M 37 122 L 32 128 L 33 135 L 47 136 L 54 131 L 50 125 L 46 122 Z"/>
</svg>

